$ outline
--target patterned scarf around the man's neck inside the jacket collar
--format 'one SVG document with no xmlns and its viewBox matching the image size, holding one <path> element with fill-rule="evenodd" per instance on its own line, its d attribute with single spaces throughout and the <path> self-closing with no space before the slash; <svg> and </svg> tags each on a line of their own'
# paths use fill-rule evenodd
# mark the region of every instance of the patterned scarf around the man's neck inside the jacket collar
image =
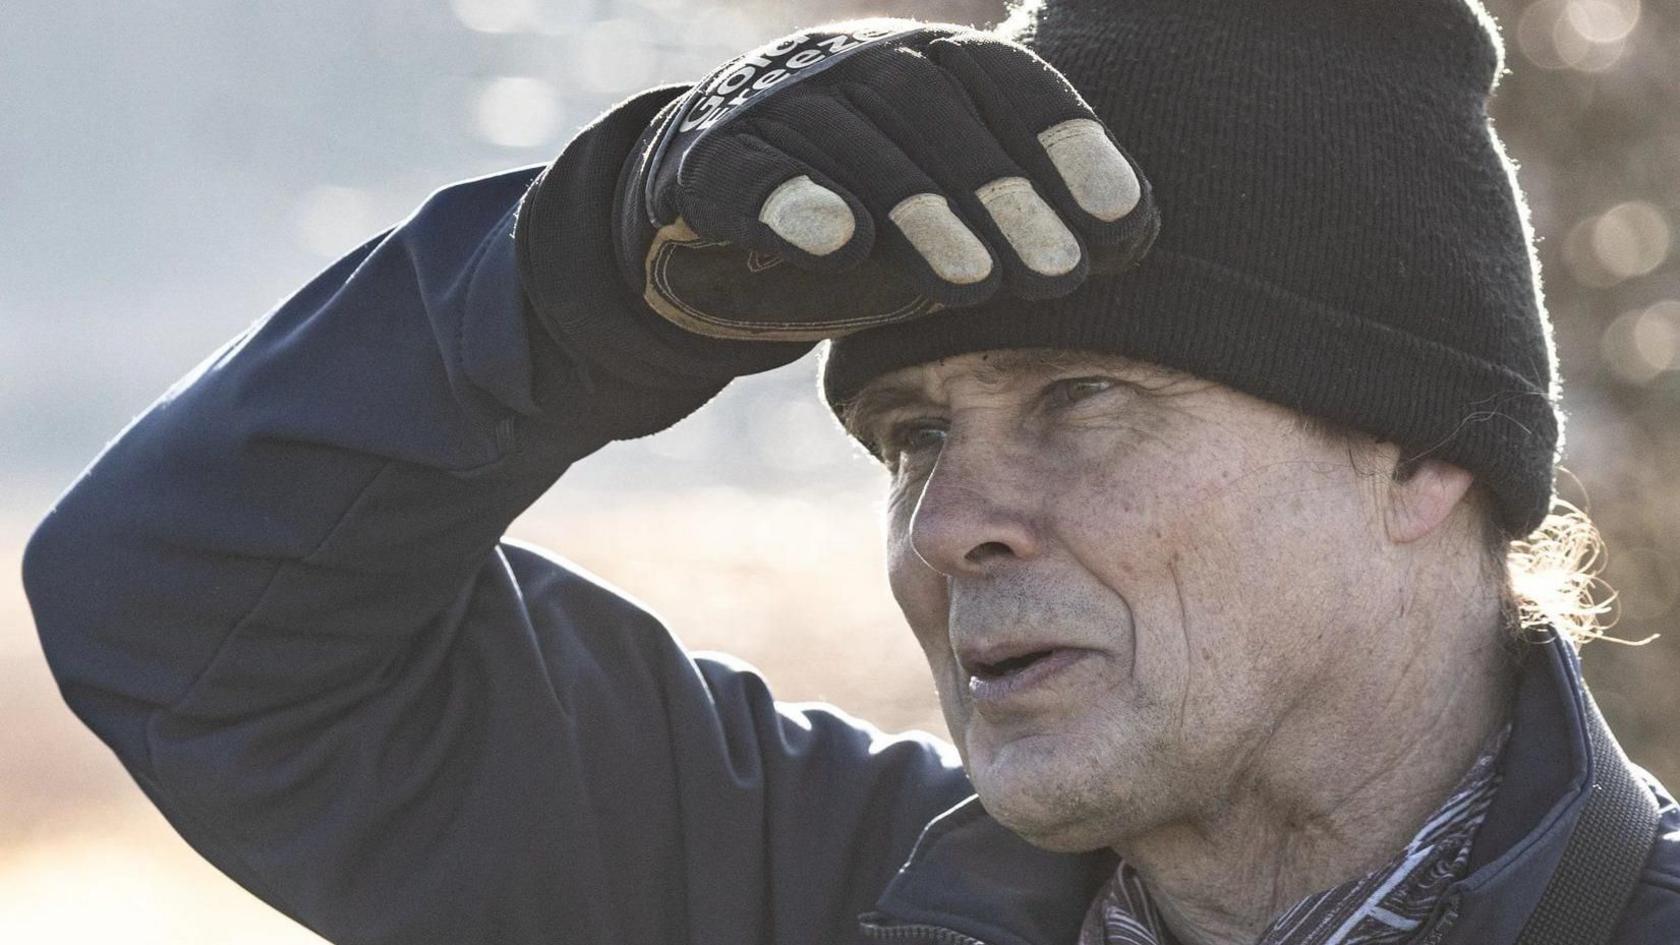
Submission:
<svg viewBox="0 0 1680 945">
<path fill-rule="evenodd" d="M 1436 915 L 1446 888 L 1465 876 L 1470 842 L 1499 790 L 1507 726 L 1494 736 L 1458 789 L 1394 859 L 1359 879 L 1307 896 L 1260 935 L 1258 945 L 1406 945 L 1445 932 Z M 1126 863 L 1085 913 L 1079 945 L 1178 945 Z"/>
</svg>

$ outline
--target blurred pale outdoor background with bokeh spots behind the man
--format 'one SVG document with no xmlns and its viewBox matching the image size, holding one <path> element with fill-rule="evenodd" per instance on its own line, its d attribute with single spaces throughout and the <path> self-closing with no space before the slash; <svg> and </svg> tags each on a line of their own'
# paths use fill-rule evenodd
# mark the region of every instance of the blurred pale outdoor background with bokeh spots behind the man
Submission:
<svg viewBox="0 0 1680 945">
<path fill-rule="evenodd" d="M 1623 637 L 1680 604 L 1680 3 L 1487 0 Z M 0 942 L 319 942 L 175 837 L 64 710 L 18 587 L 30 526 L 171 380 L 452 180 L 549 160 L 618 98 L 864 12 L 1001 0 L 10 0 L 0 30 Z M 887 595 L 884 478 L 813 365 L 578 466 L 514 535 L 778 694 L 942 726 Z M 647 536 L 659 535 L 659 541 Z M 1594 644 L 1635 760 L 1680 787 L 1680 632 Z"/>
</svg>

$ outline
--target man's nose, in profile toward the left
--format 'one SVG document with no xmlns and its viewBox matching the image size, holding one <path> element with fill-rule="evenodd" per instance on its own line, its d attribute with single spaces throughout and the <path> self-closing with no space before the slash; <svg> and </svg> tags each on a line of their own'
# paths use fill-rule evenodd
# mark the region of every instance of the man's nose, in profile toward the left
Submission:
<svg viewBox="0 0 1680 945">
<path fill-rule="evenodd" d="M 946 575 L 984 575 L 1037 553 L 1032 472 L 1005 451 L 953 436 L 922 484 L 911 548 Z"/>
</svg>

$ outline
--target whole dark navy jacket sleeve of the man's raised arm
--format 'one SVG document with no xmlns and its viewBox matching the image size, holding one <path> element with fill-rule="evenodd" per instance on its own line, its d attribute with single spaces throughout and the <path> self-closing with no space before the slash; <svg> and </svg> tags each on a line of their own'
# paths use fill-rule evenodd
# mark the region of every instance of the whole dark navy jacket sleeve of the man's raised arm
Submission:
<svg viewBox="0 0 1680 945">
<path fill-rule="evenodd" d="M 538 326 L 534 178 L 438 192 L 129 424 L 25 550 L 47 659 L 203 856 L 329 940 L 845 938 L 966 782 L 502 543 L 721 387 Z"/>
</svg>

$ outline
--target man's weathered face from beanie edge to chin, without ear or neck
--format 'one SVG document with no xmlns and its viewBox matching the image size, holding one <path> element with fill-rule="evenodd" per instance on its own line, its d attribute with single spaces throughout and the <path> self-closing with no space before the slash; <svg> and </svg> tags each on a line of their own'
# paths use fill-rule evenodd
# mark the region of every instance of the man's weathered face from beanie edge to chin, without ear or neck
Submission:
<svg viewBox="0 0 1680 945">
<path fill-rule="evenodd" d="M 1028 839 L 1203 814 L 1361 684 L 1388 469 L 1295 414 L 1038 350 L 877 378 L 850 425 L 892 471 L 892 592 L 951 735 Z"/>
</svg>

